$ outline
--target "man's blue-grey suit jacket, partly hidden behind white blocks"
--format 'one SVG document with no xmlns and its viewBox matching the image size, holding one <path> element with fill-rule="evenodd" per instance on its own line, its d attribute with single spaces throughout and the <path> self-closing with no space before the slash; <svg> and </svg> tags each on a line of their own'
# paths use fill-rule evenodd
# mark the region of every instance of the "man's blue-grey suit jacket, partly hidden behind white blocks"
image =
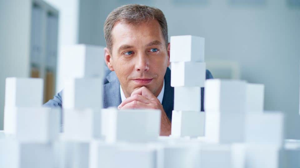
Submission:
<svg viewBox="0 0 300 168">
<path fill-rule="evenodd" d="M 212 74 L 206 70 L 206 79 L 211 79 Z M 168 118 L 172 119 L 172 111 L 174 107 L 174 87 L 171 87 L 171 70 L 167 68 L 165 77 L 165 88 L 163 93 L 163 109 L 165 110 Z M 62 107 L 62 94 L 60 91 L 44 104 L 45 107 Z M 118 107 L 121 104 L 120 82 L 114 71 L 106 70 L 105 78 L 103 81 L 103 108 Z M 204 111 L 204 88 L 201 88 L 201 111 Z"/>
</svg>

